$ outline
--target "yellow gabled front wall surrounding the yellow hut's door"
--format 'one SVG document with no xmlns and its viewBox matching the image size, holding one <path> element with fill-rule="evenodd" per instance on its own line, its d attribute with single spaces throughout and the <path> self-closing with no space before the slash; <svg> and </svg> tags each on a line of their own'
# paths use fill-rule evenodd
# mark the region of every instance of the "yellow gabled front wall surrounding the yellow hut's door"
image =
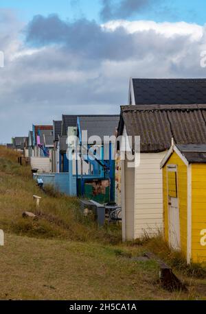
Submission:
<svg viewBox="0 0 206 314">
<path fill-rule="evenodd" d="M 168 165 L 177 165 L 177 187 L 179 197 L 180 229 L 181 229 L 181 250 L 187 257 L 187 166 L 174 152 L 163 167 L 163 220 L 165 239 L 168 241 Z M 172 186 L 170 187 L 170 190 Z M 173 187 L 174 189 L 174 187 Z"/>
</svg>

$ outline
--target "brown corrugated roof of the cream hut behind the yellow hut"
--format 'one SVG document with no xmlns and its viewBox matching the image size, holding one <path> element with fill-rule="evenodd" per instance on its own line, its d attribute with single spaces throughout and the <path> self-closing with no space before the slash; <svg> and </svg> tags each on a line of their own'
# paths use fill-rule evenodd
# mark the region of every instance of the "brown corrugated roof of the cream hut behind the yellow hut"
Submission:
<svg viewBox="0 0 206 314">
<path fill-rule="evenodd" d="M 141 152 L 163 152 L 176 144 L 206 143 L 206 105 L 122 106 L 119 135 L 141 136 Z M 133 147 L 134 148 L 134 147 Z"/>
</svg>

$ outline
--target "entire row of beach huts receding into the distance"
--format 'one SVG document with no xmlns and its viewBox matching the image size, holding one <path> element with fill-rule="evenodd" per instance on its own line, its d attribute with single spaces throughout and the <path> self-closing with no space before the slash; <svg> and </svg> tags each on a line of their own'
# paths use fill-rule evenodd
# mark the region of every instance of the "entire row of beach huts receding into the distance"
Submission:
<svg viewBox="0 0 206 314">
<path fill-rule="evenodd" d="M 78 138 L 80 158 L 68 136 Z M 139 149 L 110 136 L 140 136 Z M 163 232 L 188 264 L 206 262 L 205 79 L 131 78 L 120 114 L 63 114 L 52 125 L 32 125 L 8 148 L 24 154 L 35 180 L 121 206 L 124 241 Z"/>
</svg>

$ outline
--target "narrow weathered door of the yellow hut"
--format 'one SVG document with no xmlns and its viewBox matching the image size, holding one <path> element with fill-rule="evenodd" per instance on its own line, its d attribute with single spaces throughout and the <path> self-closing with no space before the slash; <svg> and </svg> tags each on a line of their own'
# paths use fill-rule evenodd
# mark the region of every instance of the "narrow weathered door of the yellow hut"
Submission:
<svg viewBox="0 0 206 314">
<path fill-rule="evenodd" d="M 168 232 L 169 243 L 174 250 L 180 250 L 179 198 L 177 186 L 177 167 L 168 166 Z"/>
</svg>

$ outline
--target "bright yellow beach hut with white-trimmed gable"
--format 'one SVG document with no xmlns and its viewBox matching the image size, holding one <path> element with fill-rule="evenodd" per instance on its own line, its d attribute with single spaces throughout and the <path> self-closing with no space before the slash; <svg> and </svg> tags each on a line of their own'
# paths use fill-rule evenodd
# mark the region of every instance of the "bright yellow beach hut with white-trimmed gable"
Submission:
<svg viewBox="0 0 206 314">
<path fill-rule="evenodd" d="M 206 262 L 206 145 L 174 145 L 161 162 L 165 240 Z"/>
</svg>

